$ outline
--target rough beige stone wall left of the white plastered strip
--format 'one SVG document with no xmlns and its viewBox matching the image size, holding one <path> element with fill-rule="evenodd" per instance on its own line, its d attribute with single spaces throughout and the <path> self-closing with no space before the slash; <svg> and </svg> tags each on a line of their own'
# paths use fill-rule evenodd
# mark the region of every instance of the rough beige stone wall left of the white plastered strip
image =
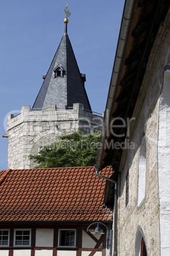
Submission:
<svg viewBox="0 0 170 256">
<path fill-rule="evenodd" d="M 159 202 L 160 191 L 157 153 L 159 102 L 162 93 L 164 67 L 170 64 L 170 29 L 168 18 L 169 15 L 167 15 L 164 24 L 160 26 L 157 38 L 155 39 L 138 102 L 134 110 L 135 120 L 131 122 L 129 138 L 130 141 L 134 143 L 134 149 L 124 150 L 119 170 L 117 250 L 118 254 L 121 256 L 140 255 L 140 238 L 142 238 L 142 236 L 147 246 L 148 255 L 160 255 L 161 224 L 159 222 L 159 203 L 161 202 Z M 138 206 L 138 169 L 143 132 L 145 132 L 146 139 L 146 179 L 143 181 L 145 196 Z M 128 172 L 129 201 L 126 205 L 126 176 Z M 167 176 L 167 172 L 168 169 L 164 168 L 164 177 Z M 167 189 L 169 189 L 167 183 L 164 183 L 164 191 L 168 191 Z M 167 214 L 169 215 L 169 212 Z M 139 234 L 141 234 L 141 236 Z M 169 234 L 165 234 L 165 236 L 167 237 Z M 161 253 L 161 255 L 167 254 Z"/>
</svg>

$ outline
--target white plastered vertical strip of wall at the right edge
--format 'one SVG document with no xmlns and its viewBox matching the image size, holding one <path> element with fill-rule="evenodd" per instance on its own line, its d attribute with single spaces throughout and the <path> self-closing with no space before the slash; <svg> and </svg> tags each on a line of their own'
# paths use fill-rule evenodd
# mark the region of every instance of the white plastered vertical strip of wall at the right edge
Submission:
<svg viewBox="0 0 170 256">
<path fill-rule="evenodd" d="M 169 110 L 170 110 L 170 71 L 164 73 L 164 85 L 159 107 L 158 138 L 158 175 L 160 203 L 160 254 L 170 252 L 170 146 L 169 146 Z"/>
</svg>

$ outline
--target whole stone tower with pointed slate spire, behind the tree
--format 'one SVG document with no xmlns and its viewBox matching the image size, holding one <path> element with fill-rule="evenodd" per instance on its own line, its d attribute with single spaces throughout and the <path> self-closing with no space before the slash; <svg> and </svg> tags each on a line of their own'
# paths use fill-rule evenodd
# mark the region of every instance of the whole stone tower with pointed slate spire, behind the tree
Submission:
<svg viewBox="0 0 170 256">
<path fill-rule="evenodd" d="M 86 75 L 80 73 L 67 34 L 69 20 L 32 108 L 23 106 L 20 115 L 8 117 L 8 168 L 29 169 L 35 155 L 56 136 L 75 131 L 101 131 L 102 117 L 91 111 L 84 88 Z"/>
</svg>

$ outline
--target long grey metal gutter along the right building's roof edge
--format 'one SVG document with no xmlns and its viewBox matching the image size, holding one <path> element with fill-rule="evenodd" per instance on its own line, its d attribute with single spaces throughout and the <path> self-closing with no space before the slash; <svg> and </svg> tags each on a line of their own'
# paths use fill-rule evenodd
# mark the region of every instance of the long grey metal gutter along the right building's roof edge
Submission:
<svg viewBox="0 0 170 256">
<path fill-rule="evenodd" d="M 108 90 L 107 104 L 105 108 L 105 115 L 103 120 L 103 127 L 100 138 L 100 149 L 98 150 L 98 156 L 96 159 L 95 168 L 97 171 L 102 169 L 101 162 L 103 158 L 103 150 L 105 148 L 105 139 L 107 138 L 108 124 L 110 123 L 110 116 L 115 99 L 115 92 L 119 85 L 119 77 L 123 66 L 124 55 L 128 43 L 128 34 L 131 27 L 131 21 L 133 18 L 134 5 L 136 0 L 126 0 L 124 3 L 124 10 L 122 14 L 121 29 L 119 32 L 119 39 L 117 42 L 117 49 L 115 53 L 114 68 L 112 70 L 112 76 L 110 80 L 110 87 Z"/>
</svg>

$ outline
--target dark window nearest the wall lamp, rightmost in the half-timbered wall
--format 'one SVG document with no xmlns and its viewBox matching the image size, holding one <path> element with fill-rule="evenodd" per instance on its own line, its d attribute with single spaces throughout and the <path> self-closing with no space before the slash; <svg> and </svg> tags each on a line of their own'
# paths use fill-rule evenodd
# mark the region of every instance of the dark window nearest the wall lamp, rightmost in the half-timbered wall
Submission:
<svg viewBox="0 0 170 256">
<path fill-rule="evenodd" d="M 76 230 L 75 229 L 59 229 L 58 246 L 75 247 Z"/>
</svg>

